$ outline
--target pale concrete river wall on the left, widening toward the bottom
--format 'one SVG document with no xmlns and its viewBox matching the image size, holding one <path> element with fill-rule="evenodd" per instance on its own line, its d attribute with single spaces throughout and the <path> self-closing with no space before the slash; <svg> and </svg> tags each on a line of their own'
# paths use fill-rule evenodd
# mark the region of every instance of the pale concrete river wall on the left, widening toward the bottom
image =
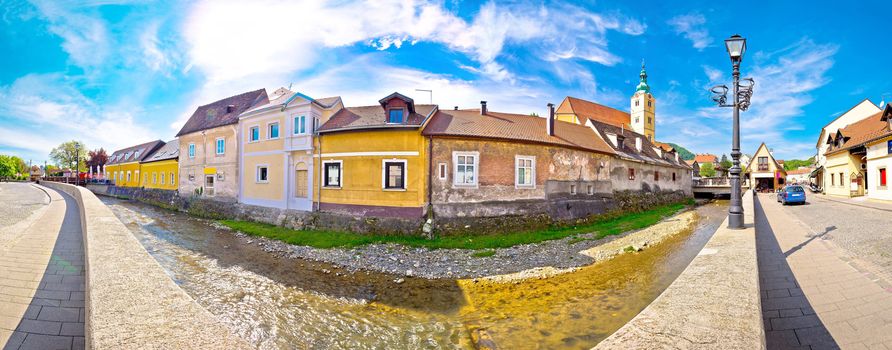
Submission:
<svg viewBox="0 0 892 350">
<path fill-rule="evenodd" d="M 90 349 L 249 349 L 180 289 L 89 190 L 41 182 L 79 205 L 86 254 Z"/>
</svg>

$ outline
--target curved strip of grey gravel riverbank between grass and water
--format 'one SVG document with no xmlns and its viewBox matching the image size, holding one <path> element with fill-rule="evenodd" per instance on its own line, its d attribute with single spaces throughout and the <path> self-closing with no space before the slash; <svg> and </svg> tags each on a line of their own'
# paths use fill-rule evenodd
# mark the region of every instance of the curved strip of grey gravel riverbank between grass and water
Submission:
<svg viewBox="0 0 892 350">
<path fill-rule="evenodd" d="M 580 266 L 632 253 L 655 245 L 667 237 L 696 226 L 696 210 L 686 210 L 648 228 L 595 239 L 580 234 L 563 239 L 510 248 L 494 249 L 494 254 L 475 257 L 477 250 L 426 249 L 396 244 L 371 244 L 352 249 L 318 249 L 234 232 L 242 241 L 261 246 L 284 258 L 307 259 L 340 266 L 349 272 L 371 270 L 397 276 L 436 278 L 487 278 L 513 281 L 541 278 L 573 271 Z M 211 225 L 228 230 L 227 227 Z M 340 273 L 332 271 L 332 273 Z M 396 279 L 401 282 L 402 277 Z"/>
</svg>

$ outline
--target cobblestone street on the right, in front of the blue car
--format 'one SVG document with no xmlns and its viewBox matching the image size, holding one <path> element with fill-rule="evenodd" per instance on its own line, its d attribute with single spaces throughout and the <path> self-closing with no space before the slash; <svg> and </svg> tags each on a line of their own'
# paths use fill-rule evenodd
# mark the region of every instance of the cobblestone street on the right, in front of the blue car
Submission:
<svg viewBox="0 0 892 350">
<path fill-rule="evenodd" d="M 813 232 L 828 231 L 824 239 L 842 248 L 846 259 L 892 287 L 892 214 L 845 201 L 851 200 L 810 194 L 808 204 L 785 211 Z"/>
</svg>

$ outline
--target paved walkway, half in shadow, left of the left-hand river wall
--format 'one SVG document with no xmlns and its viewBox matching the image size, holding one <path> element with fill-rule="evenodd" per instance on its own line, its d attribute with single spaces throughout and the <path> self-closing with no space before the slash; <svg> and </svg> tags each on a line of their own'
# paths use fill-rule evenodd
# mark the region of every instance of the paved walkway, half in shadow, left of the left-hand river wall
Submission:
<svg viewBox="0 0 892 350">
<path fill-rule="evenodd" d="M 84 248 L 77 203 L 45 189 L 50 204 L 0 246 L 3 349 L 84 348 Z"/>
</svg>

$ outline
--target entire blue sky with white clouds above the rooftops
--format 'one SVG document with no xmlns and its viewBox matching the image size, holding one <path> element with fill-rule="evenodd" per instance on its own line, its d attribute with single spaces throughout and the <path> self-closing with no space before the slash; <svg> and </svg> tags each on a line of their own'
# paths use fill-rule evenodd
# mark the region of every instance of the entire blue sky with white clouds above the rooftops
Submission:
<svg viewBox="0 0 892 350">
<path fill-rule="evenodd" d="M 707 88 L 730 80 L 734 33 L 756 79 L 745 152 L 811 156 L 835 116 L 892 101 L 888 1 L 0 3 L 0 153 L 38 163 L 65 140 L 169 140 L 198 105 L 291 84 L 348 106 L 432 89 L 443 108 L 545 115 L 570 95 L 628 110 L 642 59 L 657 139 L 729 153 L 731 111 Z"/>
</svg>

